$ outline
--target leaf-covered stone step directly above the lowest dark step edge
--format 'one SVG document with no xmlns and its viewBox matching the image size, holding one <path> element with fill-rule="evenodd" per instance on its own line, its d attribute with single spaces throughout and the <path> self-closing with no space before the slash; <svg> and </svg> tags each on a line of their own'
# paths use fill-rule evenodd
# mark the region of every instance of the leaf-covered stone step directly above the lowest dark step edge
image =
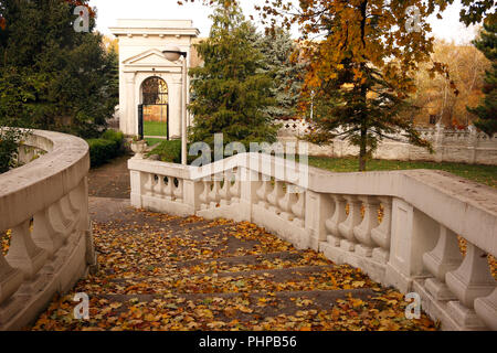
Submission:
<svg viewBox="0 0 497 353">
<path fill-rule="evenodd" d="M 95 281 L 97 279 L 93 279 Z M 145 295 L 145 293 L 210 293 L 210 292 L 250 292 L 284 290 L 341 290 L 353 288 L 372 288 L 366 275 L 343 274 L 342 266 L 303 266 L 283 269 L 260 269 L 240 272 L 221 272 L 213 275 L 189 275 L 173 269 L 165 276 L 107 278 L 99 282 L 108 293 Z M 78 290 L 92 292 L 91 287 Z"/>
</svg>

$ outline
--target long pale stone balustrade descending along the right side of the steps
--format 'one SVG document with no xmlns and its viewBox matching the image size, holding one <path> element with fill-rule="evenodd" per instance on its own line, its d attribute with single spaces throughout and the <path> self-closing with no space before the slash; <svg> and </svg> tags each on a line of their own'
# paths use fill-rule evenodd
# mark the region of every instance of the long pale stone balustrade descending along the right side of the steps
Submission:
<svg viewBox="0 0 497 353">
<path fill-rule="evenodd" d="M 253 222 L 419 293 L 444 330 L 497 330 L 484 256 L 497 256 L 494 189 L 437 171 L 331 173 L 258 153 L 203 168 L 138 158 L 128 167 L 135 207 Z"/>
</svg>

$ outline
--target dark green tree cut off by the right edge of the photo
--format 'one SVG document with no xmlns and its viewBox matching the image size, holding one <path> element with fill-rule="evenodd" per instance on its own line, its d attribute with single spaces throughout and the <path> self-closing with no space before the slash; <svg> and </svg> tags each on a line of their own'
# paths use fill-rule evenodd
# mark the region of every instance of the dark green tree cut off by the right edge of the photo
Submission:
<svg viewBox="0 0 497 353">
<path fill-rule="evenodd" d="M 488 19 L 482 31 L 482 38 L 474 42 L 475 46 L 491 62 L 486 72 L 483 92 L 485 98 L 476 108 L 468 110 L 478 116 L 475 126 L 489 137 L 497 133 L 497 21 Z"/>
</svg>

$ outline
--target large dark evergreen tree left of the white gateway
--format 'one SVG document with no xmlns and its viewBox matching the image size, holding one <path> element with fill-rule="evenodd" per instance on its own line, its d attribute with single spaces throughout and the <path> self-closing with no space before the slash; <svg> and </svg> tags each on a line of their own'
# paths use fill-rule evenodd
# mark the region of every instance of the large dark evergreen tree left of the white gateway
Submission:
<svg viewBox="0 0 497 353">
<path fill-rule="evenodd" d="M 74 30 L 74 9 L 86 2 L 0 2 L 0 125 L 85 138 L 105 129 L 117 105 L 117 54 L 106 53 L 102 35 L 93 33 L 94 18 L 89 32 Z"/>
</svg>

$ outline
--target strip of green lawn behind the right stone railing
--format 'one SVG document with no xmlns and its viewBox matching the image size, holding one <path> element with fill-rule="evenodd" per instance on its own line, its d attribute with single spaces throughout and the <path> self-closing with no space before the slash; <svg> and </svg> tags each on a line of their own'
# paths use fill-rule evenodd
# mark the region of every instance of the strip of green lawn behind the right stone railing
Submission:
<svg viewBox="0 0 497 353">
<path fill-rule="evenodd" d="M 357 158 L 328 158 L 309 157 L 309 165 L 326 169 L 334 172 L 357 172 Z M 414 161 L 368 161 L 368 171 L 380 170 L 409 170 L 409 169 L 434 169 L 443 170 L 458 176 L 463 176 L 491 188 L 497 188 L 497 165 L 464 164 L 450 162 L 414 162 Z"/>
</svg>

